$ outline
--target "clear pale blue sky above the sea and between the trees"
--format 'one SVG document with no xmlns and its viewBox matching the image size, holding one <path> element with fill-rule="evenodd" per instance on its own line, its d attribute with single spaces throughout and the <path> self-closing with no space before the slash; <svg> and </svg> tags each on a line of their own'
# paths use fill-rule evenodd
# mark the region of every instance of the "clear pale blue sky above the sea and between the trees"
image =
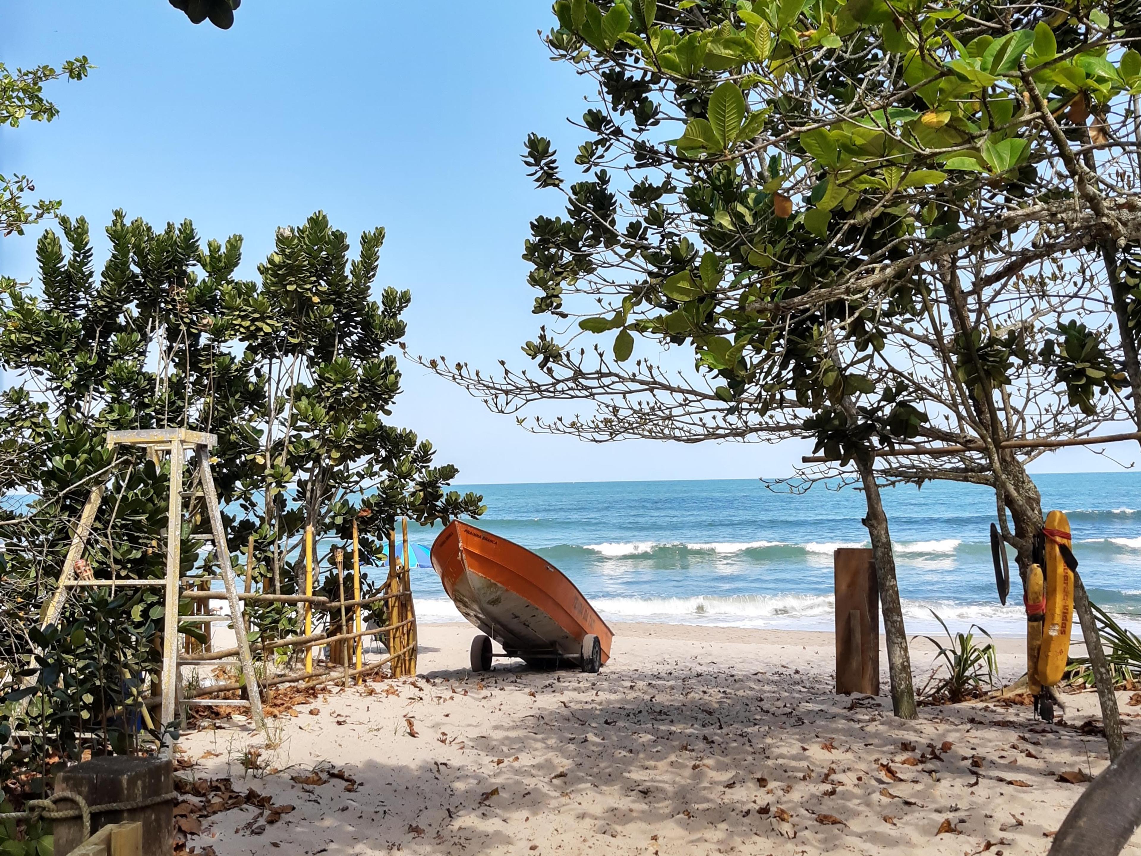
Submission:
<svg viewBox="0 0 1141 856">
<path fill-rule="evenodd" d="M 545 0 L 245 0 L 226 32 L 165 0 L 0 0 L 0 21 L 9 66 L 80 54 L 98 66 L 50 88 L 56 121 L 0 132 L 0 171 L 32 176 L 38 195 L 63 199 L 92 232 L 115 208 L 156 225 L 189 217 L 204 239 L 242 234 L 252 277 L 274 228 L 314 210 L 354 236 L 382 225 L 379 284 L 412 291 L 411 352 L 525 362 L 519 345 L 539 320 L 523 242 L 533 217 L 559 210 L 519 153 L 534 130 L 568 162 L 577 135 L 566 116 L 590 92 L 548 58 Z M 0 240 L 0 270 L 31 278 L 34 241 Z M 403 369 L 394 418 L 466 483 L 786 475 L 808 451 L 532 436 Z M 1130 445 L 1119 452 L 1131 459 Z M 1070 451 L 1038 469 L 1108 466 Z"/>
</svg>

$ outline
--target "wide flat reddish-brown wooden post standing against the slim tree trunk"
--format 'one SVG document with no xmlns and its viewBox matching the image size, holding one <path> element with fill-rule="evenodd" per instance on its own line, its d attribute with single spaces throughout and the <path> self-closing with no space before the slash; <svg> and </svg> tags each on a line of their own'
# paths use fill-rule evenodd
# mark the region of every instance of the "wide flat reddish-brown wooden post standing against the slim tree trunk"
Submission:
<svg viewBox="0 0 1141 856">
<path fill-rule="evenodd" d="M 880 694 L 880 590 L 872 550 L 833 556 L 836 591 L 836 693 Z"/>
</svg>

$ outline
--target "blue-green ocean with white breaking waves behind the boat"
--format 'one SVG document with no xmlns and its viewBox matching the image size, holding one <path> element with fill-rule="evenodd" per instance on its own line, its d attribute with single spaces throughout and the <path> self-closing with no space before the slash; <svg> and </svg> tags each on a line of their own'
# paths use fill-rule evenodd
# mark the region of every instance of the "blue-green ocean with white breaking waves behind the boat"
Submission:
<svg viewBox="0 0 1141 856">
<path fill-rule="evenodd" d="M 1094 603 L 1141 624 L 1141 474 L 1038 475 L 1043 509 L 1067 512 Z M 864 495 L 803 494 L 759 481 L 471 485 L 475 525 L 566 573 L 606 621 L 832 630 L 832 551 L 867 547 Z M 998 603 L 990 560 L 994 492 L 947 482 L 883 491 L 908 632 L 978 624 L 1022 635 L 1022 589 Z M 439 532 L 415 527 L 430 546 Z M 413 568 L 420 621 L 462 620 L 430 567 Z M 1136 616 L 1131 617 L 1131 616 Z"/>
</svg>

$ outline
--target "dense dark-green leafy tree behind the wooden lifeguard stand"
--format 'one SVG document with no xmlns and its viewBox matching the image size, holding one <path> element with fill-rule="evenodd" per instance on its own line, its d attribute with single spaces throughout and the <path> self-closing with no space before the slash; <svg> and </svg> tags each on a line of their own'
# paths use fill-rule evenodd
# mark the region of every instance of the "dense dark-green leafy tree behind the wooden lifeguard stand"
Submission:
<svg viewBox="0 0 1141 856">
<path fill-rule="evenodd" d="M 90 573 L 164 574 L 169 463 L 108 450 L 108 430 L 217 434 L 212 469 L 227 541 L 241 550 L 253 534 L 253 573 L 280 591 L 297 590 L 294 574 L 281 570 L 304 565 L 298 546 L 307 524 L 347 547 L 359 517 L 361 564 L 369 566 L 381 564 L 385 536 L 400 515 L 429 524 L 482 514 L 478 495 L 447 490 L 455 467 L 434 466 L 427 441 L 383 420 L 400 380 L 387 352 L 404 336 L 400 316 L 411 300 L 393 288 L 380 301 L 371 297 L 383 229 L 364 233 L 350 259 L 345 233 L 315 213 L 278 229 L 260 281 L 251 282 L 235 278 L 240 236 L 203 245 L 188 220 L 160 232 L 116 211 L 98 274 L 87 221 L 62 216 L 59 227 L 62 236 L 46 231 L 37 245 L 39 293 L 0 283 L 0 365 L 10 383 L 0 393 L 8 462 L 0 471 L 7 506 L 0 621 L 17 630 L 0 649 L 8 680 L 26 671 L 33 643 L 46 644 L 34 637 L 35 616 L 96 479 L 111 483 L 88 544 Z M 203 516 L 201 500 L 188 504 L 189 518 Z M 203 559 L 189 525 L 181 550 L 187 570 Z M 244 565 L 238 556 L 233 562 Z M 154 673 L 161 597 L 132 589 L 75 608 L 92 604 L 86 637 L 60 628 L 49 640 L 54 651 L 104 671 Z M 284 628 L 291 613 L 281 612 Z M 66 624 L 76 616 L 66 613 Z M 62 695 L 54 678 L 41 684 L 51 698 L 41 695 L 31 710 L 54 717 L 44 748 L 56 751 L 78 748 L 67 735 L 90 730 L 79 727 L 83 719 L 114 712 L 122 701 L 119 678 L 84 679 Z M 9 734 L 0 724 L 0 736 Z"/>
</svg>

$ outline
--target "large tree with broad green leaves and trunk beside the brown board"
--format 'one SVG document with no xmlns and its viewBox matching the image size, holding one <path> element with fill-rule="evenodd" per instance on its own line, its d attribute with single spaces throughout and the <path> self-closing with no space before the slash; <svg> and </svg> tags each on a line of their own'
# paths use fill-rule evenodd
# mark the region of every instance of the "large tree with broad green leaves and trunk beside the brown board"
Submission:
<svg viewBox="0 0 1141 856">
<path fill-rule="evenodd" d="M 1075 205 L 1071 187 L 1039 175 L 1059 156 L 1039 129 L 1078 97 L 1109 103 L 1134 86 L 1132 59 L 1115 48 L 1122 34 L 1101 8 L 1070 18 L 919 0 L 567 0 L 555 10 L 548 45 L 600 96 L 576 122 L 589 138 L 575 162 L 590 177 L 568 186 L 549 140 L 527 140 L 536 184 L 567 200 L 566 219 L 533 221 L 525 251 L 535 312 L 564 326 L 525 346 L 537 375 L 429 364 L 504 412 L 549 398 L 596 404 L 585 419 L 533 422 L 540 430 L 685 442 L 810 434 L 830 458 L 855 462 L 887 580 L 896 709 L 908 713 L 873 460 L 920 437 L 990 443 L 1000 504 L 1035 517 L 1036 488 L 1011 455 L 1003 468 L 1005 429 L 974 395 L 1002 396 L 1003 385 L 964 377 L 948 403 L 904 366 L 937 312 L 940 324 L 958 323 L 949 345 L 941 332 L 922 339 L 941 380 L 948 364 L 956 377 L 989 372 L 986 358 L 1018 350 L 1017 336 L 1004 345 L 1010 331 L 961 323 L 957 294 L 1099 240 L 1104 211 Z M 1106 59 L 1115 49 L 1117 64 Z M 1054 99 L 1045 111 L 1027 81 Z M 1141 231 L 1128 194 L 1106 205 L 1126 234 Z M 971 282 L 947 289 L 962 258 Z M 1022 322 L 1015 333 L 1034 318 Z M 912 328 L 922 330 L 905 334 Z M 614 334 L 610 353 L 588 356 L 576 342 L 586 333 Z M 697 375 L 631 363 L 636 336 L 691 350 Z M 1042 378 L 1041 361 L 1031 373 Z M 1039 415 L 1051 431 L 1071 426 Z M 982 469 L 977 459 L 970 468 Z M 1021 542 L 1041 526 L 1037 509 L 1033 525 L 1006 534 Z"/>
</svg>

